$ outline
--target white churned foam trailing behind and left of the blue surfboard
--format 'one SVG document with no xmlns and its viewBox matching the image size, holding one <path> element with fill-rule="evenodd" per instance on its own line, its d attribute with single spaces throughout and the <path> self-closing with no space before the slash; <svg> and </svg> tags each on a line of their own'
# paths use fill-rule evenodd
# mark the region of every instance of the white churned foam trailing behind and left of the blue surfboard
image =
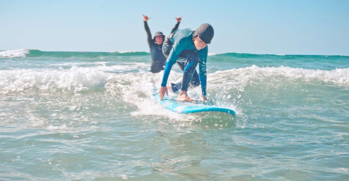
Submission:
<svg viewBox="0 0 349 181">
<path fill-rule="evenodd" d="M 109 74 L 106 79 L 105 89 L 114 94 L 121 95 L 122 100 L 136 105 L 138 109 L 131 112 L 132 116 L 157 115 L 170 120 L 186 121 L 192 119 L 191 115 L 179 115 L 163 108 L 154 99 L 154 91 L 161 84 L 163 71 L 161 73 L 127 73 Z M 176 80 L 183 74 L 171 72 L 169 82 Z M 119 93 L 121 91 L 121 94 Z"/>
</svg>

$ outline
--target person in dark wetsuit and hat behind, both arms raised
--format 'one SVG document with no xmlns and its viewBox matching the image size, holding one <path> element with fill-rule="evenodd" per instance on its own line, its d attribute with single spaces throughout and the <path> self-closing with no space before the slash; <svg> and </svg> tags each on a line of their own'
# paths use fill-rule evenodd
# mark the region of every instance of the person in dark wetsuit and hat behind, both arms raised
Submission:
<svg viewBox="0 0 349 181">
<path fill-rule="evenodd" d="M 166 57 L 162 53 L 162 44 L 164 42 L 165 36 L 161 31 L 155 32 L 154 38 L 151 36 L 150 29 L 147 23 L 149 18 L 150 17 L 143 15 L 144 29 L 147 32 L 147 40 L 150 48 L 150 58 L 151 58 L 150 72 L 158 73 L 164 70 L 164 66 L 166 62 Z M 171 33 L 174 30 L 178 29 L 178 26 L 182 17 L 176 17 L 176 19 L 177 19 L 177 23 L 173 27 Z"/>
</svg>

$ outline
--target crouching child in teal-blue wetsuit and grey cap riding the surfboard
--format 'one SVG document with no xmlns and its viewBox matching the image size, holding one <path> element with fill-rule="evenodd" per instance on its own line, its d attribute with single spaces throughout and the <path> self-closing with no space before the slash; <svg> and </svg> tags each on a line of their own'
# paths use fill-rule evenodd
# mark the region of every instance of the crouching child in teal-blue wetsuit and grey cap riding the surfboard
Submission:
<svg viewBox="0 0 349 181">
<path fill-rule="evenodd" d="M 168 88 L 166 87 L 167 79 L 169 77 L 172 65 L 176 61 L 184 61 L 186 63 L 183 69 L 183 80 L 181 84 L 181 91 L 177 97 L 177 101 L 192 100 L 188 94 L 188 86 L 191 78 L 196 72 L 195 68 L 199 63 L 199 79 L 201 84 L 201 100 L 207 100 L 206 94 L 206 61 L 208 47 L 214 36 L 213 27 L 208 24 L 202 24 L 195 31 L 192 29 L 183 29 L 173 31 L 164 42 L 162 47 L 163 54 L 167 57 L 164 76 L 159 89 L 160 101 L 163 100 L 164 95 L 168 95 Z M 179 59 L 178 59 L 179 58 Z"/>
</svg>

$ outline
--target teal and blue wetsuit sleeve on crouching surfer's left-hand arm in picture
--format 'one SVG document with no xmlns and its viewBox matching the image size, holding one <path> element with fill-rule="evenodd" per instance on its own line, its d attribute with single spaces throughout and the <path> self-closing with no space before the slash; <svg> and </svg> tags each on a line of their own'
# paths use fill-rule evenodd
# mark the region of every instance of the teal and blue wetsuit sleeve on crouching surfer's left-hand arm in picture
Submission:
<svg viewBox="0 0 349 181">
<path fill-rule="evenodd" d="M 166 60 L 166 66 L 165 66 L 165 71 L 164 71 L 164 76 L 162 78 L 161 86 L 166 86 L 167 79 L 169 78 L 172 65 L 176 63 L 176 60 L 178 59 L 179 54 L 184 50 L 185 45 L 186 45 L 185 42 L 179 43 L 176 41 L 172 46 L 170 54 Z"/>
</svg>

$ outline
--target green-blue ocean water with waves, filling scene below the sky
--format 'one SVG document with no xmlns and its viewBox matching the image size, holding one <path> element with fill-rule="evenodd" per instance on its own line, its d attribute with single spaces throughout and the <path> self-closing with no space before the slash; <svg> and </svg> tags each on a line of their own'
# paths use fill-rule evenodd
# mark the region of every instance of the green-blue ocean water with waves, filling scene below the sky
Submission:
<svg viewBox="0 0 349 181">
<path fill-rule="evenodd" d="M 146 52 L 0 62 L 0 180 L 349 180 L 349 56 L 209 54 L 209 102 L 232 126 L 154 101 Z"/>
</svg>

